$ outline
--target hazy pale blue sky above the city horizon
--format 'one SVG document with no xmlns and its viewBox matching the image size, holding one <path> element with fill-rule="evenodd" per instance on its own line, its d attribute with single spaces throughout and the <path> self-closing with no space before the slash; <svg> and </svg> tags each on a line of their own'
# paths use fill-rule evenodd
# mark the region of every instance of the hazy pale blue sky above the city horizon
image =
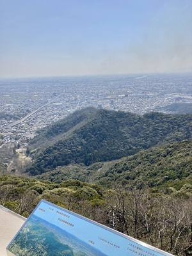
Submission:
<svg viewBox="0 0 192 256">
<path fill-rule="evenodd" d="M 0 77 L 192 70 L 192 0 L 0 0 Z"/>
</svg>

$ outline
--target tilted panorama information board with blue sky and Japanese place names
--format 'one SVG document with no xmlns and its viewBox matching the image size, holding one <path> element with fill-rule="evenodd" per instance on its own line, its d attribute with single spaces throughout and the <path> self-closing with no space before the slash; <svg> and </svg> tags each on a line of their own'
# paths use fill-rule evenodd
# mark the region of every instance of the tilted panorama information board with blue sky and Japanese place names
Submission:
<svg viewBox="0 0 192 256">
<path fill-rule="evenodd" d="M 8 255 L 30 256 L 170 256 L 126 236 L 41 200 L 7 247 Z"/>
</svg>

